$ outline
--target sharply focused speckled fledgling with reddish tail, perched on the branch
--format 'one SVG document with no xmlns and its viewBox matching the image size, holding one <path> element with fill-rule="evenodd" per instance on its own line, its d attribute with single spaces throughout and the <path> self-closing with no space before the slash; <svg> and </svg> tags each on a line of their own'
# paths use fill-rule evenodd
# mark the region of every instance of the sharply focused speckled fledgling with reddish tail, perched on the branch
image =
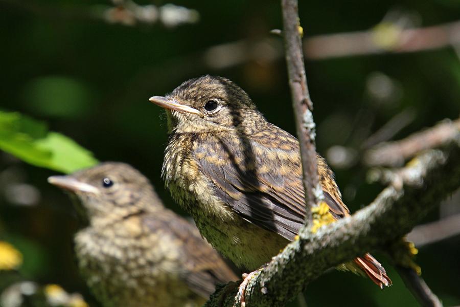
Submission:
<svg viewBox="0 0 460 307">
<path fill-rule="evenodd" d="M 255 270 L 278 254 L 304 224 L 305 202 L 296 138 L 269 123 L 238 85 L 213 76 L 191 79 L 166 97 L 169 143 L 163 178 L 201 234 L 238 266 Z M 316 157 L 334 218 L 350 215 L 334 175 Z M 369 253 L 341 266 L 392 282 Z"/>
</svg>

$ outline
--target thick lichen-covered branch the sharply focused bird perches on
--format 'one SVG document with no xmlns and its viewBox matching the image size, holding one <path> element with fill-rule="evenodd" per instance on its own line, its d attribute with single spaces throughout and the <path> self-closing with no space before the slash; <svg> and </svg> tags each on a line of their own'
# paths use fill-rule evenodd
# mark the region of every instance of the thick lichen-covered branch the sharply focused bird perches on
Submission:
<svg viewBox="0 0 460 307">
<path fill-rule="evenodd" d="M 282 306 L 329 268 L 384 248 L 408 233 L 460 186 L 459 137 L 418 156 L 371 205 L 315 233 L 304 227 L 299 238 L 249 282 L 246 305 Z M 236 295 L 235 287 L 220 289 L 206 305 L 238 305 Z"/>
</svg>

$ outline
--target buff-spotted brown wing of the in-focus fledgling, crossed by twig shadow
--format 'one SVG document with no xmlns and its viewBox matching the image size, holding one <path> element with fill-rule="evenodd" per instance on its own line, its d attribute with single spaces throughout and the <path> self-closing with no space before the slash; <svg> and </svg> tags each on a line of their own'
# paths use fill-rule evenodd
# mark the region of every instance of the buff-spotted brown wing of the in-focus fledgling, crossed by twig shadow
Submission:
<svg viewBox="0 0 460 307">
<path fill-rule="evenodd" d="M 292 240 L 305 219 L 300 151 L 293 136 L 276 126 L 270 129 L 246 139 L 202 140 L 195 159 L 225 204 L 247 221 Z M 323 158 L 317 156 L 317 162 L 331 213 L 347 215 L 332 172 Z"/>
</svg>

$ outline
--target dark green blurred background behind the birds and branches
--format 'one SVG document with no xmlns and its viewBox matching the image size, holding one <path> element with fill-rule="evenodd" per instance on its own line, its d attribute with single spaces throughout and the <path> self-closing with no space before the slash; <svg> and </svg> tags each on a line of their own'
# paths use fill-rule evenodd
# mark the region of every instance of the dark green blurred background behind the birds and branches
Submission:
<svg viewBox="0 0 460 307">
<path fill-rule="evenodd" d="M 100 161 L 132 164 L 152 181 L 166 206 L 185 214 L 160 179 L 166 122 L 149 97 L 192 77 L 221 75 L 239 84 L 269 121 L 295 131 L 282 39 L 269 34 L 281 28 L 279 2 L 173 3 L 196 10 L 199 20 L 176 27 L 161 22 L 127 26 L 101 17 L 111 12 L 107 18 L 112 21 L 131 20 L 109 11 L 109 1 L 0 0 L 0 109 L 48 123 Z M 317 148 L 335 171 L 344 202 L 356 211 L 382 189 L 366 181 L 369 168 L 361 159 L 366 146 L 458 117 L 460 42 L 420 52 L 383 51 L 392 48 L 392 35 L 401 29 L 456 21 L 460 1 L 301 2 L 299 13 L 304 38 L 373 31 L 384 40 L 377 54 L 306 59 Z M 342 45 L 337 41 L 329 48 Z M 388 122 L 389 133 L 382 139 L 373 136 Z M 77 222 L 67 196 L 47 183 L 53 174 L 0 151 L 0 240 L 22 253 L 20 278 L 58 283 L 93 305 L 72 255 Z M 459 213 L 458 200 L 453 195 L 426 222 Z M 459 243 L 460 236 L 452 237 L 421 248 L 417 257 L 424 279 L 445 305 L 460 304 Z M 375 256 L 393 287 L 381 291 L 369 280 L 331 271 L 308 286 L 307 303 L 418 305 L 385 255 Z M 5 273 L 0 287 L 18 278 Z"/>
</svg>

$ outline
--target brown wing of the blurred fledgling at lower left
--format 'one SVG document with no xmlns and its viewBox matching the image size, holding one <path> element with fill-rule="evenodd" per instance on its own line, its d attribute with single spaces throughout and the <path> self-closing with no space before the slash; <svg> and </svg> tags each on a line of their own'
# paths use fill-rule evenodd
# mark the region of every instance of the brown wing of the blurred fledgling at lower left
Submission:
<svg viewBox="0 0 460 307">
<path fill-rule="evenodd" d="M 238 279 L 211 245 L 204 241 L 194 225 L 169 210 L 167 212 L 161 218 L 159 215 L 146 216 L 144 224 L 156 228 L 161 219 L 161 227 L 180 240 L 183 264 L 181 275 L 193 292 L 208 298 L 214 293 L 217 283 Z"/>
</svg>

